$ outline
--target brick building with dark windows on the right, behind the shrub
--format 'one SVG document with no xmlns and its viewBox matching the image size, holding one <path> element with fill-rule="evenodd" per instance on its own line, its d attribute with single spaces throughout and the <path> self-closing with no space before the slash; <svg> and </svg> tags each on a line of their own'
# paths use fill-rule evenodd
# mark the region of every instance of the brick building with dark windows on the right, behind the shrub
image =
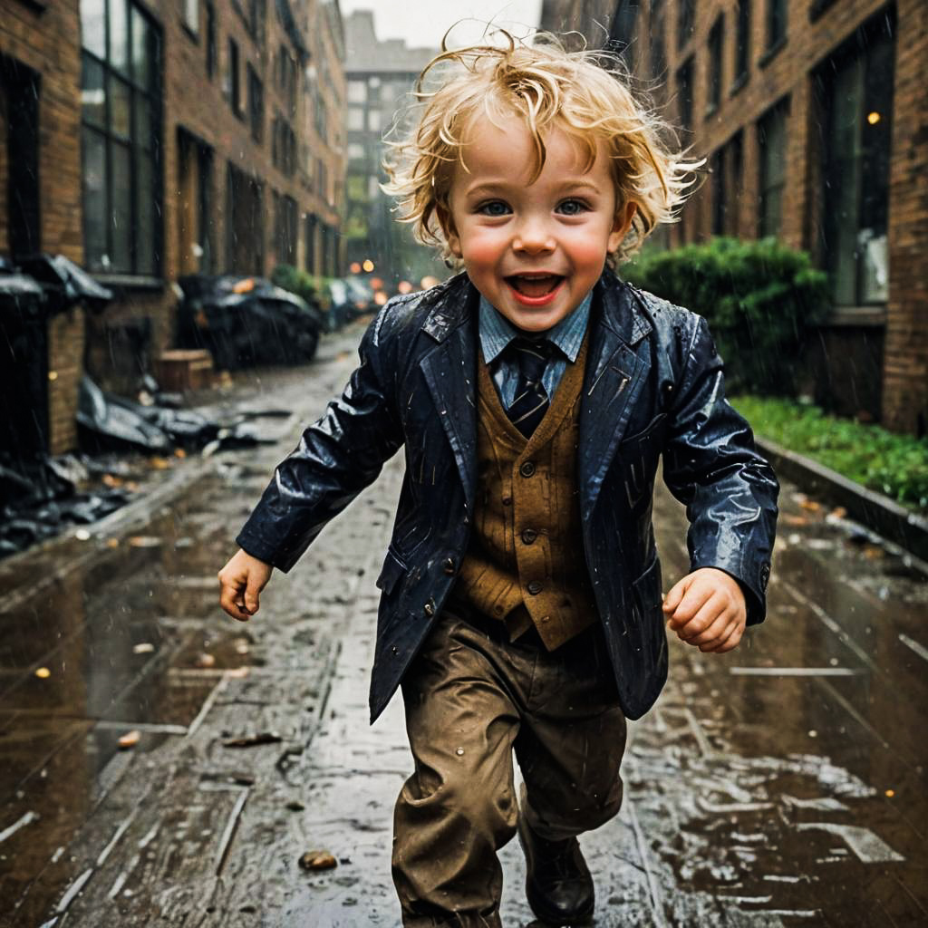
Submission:
<svg viewBox="0 0 928 928">
<path fill-rule="evenodd" d="M 546 0 L 542 25 L 610 39 L 708 159 L 669 243 L 773 235 L 831 276 L 808 346 L 816 398 L 928 430 L 924 0 Z"/>
</svg>

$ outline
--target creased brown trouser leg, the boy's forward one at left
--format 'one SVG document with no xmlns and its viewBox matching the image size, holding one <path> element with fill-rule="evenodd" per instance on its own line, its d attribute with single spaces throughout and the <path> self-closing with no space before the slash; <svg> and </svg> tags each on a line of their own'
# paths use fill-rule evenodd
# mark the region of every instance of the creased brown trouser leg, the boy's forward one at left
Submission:
<svg viewBox="0 0 928 928">
<path fill-rule="evenodd" d="M 496 850 L 516 830 L 519 715 L 492 644 L 443 617 L 403 683 L 415 772 L 396 802 L 393 881 L 406 928 L 500 926 Z"/>
</svg>

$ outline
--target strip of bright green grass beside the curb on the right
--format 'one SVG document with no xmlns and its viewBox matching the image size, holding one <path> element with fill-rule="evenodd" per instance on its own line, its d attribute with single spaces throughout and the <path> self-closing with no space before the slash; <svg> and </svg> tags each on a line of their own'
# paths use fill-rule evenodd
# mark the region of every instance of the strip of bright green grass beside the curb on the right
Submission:
<svg viewBox="0 0 928 928">
<path fill-rule="evenodd" d="M 818 406 L 732 397 L 758 435 L 915 509 L 928 508 L 928 441 L 826 416 Z"/>
</svg>

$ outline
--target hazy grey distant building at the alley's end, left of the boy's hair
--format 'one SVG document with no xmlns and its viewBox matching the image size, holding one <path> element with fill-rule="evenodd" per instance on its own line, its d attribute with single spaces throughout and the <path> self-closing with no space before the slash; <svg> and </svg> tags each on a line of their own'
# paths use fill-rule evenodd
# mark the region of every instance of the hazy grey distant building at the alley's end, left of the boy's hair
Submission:
<svg viewBox="0 0 928 928">
<path fill-rule="evenodd" d="M 396 113 L 412 100 L 419 72 L 438 52 L 407 48 L 397 39 L 381 42 L 370 10 L 357 10 L 345 19 L 345 46 L 346 260 L 355 268 L 373 264 L 374 275 L 393 286 L 403 279 L 418 286 L 421 277 L 445 268 L 414 242 L 408 226 L 396 222 L 393 200 L 380 191 L 380 182 L 386 180 L 382 139 Z"/>
</svg>

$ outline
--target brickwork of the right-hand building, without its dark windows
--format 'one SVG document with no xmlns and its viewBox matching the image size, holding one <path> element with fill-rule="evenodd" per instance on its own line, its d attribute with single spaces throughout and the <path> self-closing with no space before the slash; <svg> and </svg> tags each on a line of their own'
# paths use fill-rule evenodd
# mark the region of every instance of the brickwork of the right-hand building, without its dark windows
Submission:
<svg viewBox="0 0 928 928">
<path fill-rule="evenodd" d="M 666 113 L 677 122 L 677 69 L 692 57 L 693 125 L 681 139 L 699 156 L 711 158 L 739 130 L 743 139 L 743 170 L 740 196 L 728 202 L 727 231 L 741 238 L 758 234 L 758 197 L 761 150 L 757 122 L 780 100 L 789 101 L 786 134 L 786 187 L 782 200 L 780 238 L 795 248 L 812 251 L 818 260 L 822 222 L 818 113 L 815 104 L 815 71 L 851 37 L 858 27 L 875 17 L 896 16 L 896 42 L 892 154 L 889 187 L 889 296 L 884 306 L 869 307 L 857 315 L 838 313 L 834 323 L 820 333 L 820 344 L 810 356 L 831 368 L 822 382 L 834 385 L 824 399 L 847 414 L 882 419 L 900 431 L 924 433 L 928 429 L 928 275 L 923 270 L 928 253 L 928 17 L 924 0 L 788 0 L 786 39 L 767 51 L 766 0 L 751 3 L 748 80 L 735 84 L 736 0 L 699 0 L 693 30 L 683 45 L 677 42 L 677 15 L 682 0 L 664 0 L 664 75 L 651 74 L 651 7 L 655 0 L 640 0 L 628 57 L 632 71 L 645 80 L 663 78 L 665 88 L 655 97 L 666 99 Z M 565 22 L 585 21 L 588 0 L 551 0 L 545 9 L 546 28 Z M 614 8 L 613 4 L 613 8 Z M 814 8 L 818 12 L 814 12 Z M 708 78 L 712 57 L 709 33 L 716 17 L 724 21 L 721 57 L 721 98 L 708 111 Z M 588 34 L 591 45 L 602 45 Z M 708 238 L 713 228 L 713 185 L 706 174 L 701 189 L 684 211 L 683 222 L 670 231 L 671 244 Z M 855 341 L 856 340 L 856 341 Z M 848 347 L 866 362 L 845 364 Z M 875 352 L 883 351 L 875 363 Z M 844 369 L 839 369 L 839 367 Z M 882 369 L 881 382 L 872 383 Z M 817 393 L 820 391 L 817 390 Z M 819 399 L 821 399 L 819 395 Z"/>
</svg>

